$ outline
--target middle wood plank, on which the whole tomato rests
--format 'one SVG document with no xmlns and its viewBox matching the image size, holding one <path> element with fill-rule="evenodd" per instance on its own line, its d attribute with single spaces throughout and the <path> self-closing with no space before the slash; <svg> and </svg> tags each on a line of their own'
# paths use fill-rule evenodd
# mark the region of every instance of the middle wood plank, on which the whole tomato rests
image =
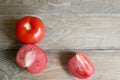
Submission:
<svg viewBox="0 0 120 80">
<path fill-rule="evenodd" d="M 14 28 L 23 16 L 0 16 L 0 49 L 21 46 Z M 120 17 L 37 16 L 46 28 L 43 49 L 120 49 Z"/>
</svg>

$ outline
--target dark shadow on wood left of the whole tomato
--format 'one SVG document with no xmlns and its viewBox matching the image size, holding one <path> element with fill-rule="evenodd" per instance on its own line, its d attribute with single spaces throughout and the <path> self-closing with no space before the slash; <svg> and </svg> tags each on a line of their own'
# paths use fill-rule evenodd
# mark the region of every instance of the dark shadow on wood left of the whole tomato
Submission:
<svg viewBox="0 0 120 80">
<path fill-rule="evenodd" d="M 17 19 L 13 16 L 3 20 L 2 32 L 3 34 L 5 34 L 6 37 L 8 37 L 7 39 L 9 39 L 7 40 L 9 43 L 9 45 L 7 45 L 9 49 L 18 48 L 22 45 L 15 37 L 16 22 Z"/>
</svg>

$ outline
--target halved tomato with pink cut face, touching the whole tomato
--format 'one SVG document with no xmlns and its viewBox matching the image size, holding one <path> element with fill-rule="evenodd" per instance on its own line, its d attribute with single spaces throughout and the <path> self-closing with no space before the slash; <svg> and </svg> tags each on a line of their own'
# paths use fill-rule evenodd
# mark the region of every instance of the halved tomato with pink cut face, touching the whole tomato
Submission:
<svg viewBox="0 0 120 80">
<path fill-rule="evenodd" d="M 47 64 L 47 56 L 39 47 L 27 44 L 22 46 L 17 52 L 16 62 L 20 67 L 36 74 L 45 68 Z"/>
</svg>

